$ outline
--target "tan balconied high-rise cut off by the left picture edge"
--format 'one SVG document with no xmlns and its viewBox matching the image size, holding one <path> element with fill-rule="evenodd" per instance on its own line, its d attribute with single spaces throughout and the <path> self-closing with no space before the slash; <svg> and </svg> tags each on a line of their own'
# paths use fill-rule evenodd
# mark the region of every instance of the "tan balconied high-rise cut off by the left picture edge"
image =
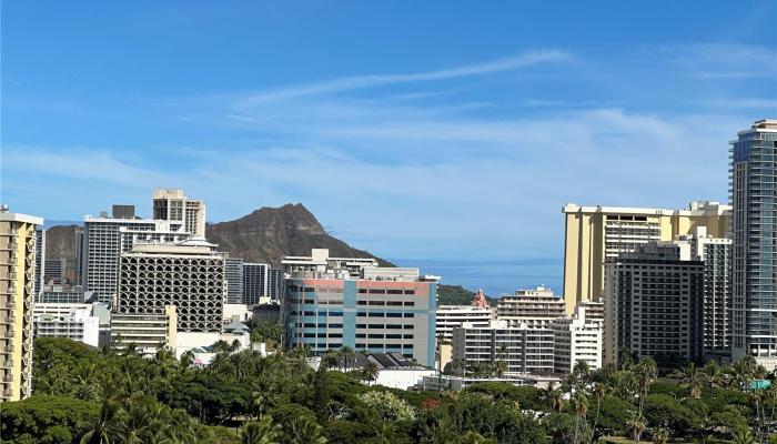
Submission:
<svg viewBox="0 0 777 444">
<path fill-rule="evenodd" d="M 0 402 L 32 390 L 36 228 L 43 219 L 0 208 Z"/>
</svg>

